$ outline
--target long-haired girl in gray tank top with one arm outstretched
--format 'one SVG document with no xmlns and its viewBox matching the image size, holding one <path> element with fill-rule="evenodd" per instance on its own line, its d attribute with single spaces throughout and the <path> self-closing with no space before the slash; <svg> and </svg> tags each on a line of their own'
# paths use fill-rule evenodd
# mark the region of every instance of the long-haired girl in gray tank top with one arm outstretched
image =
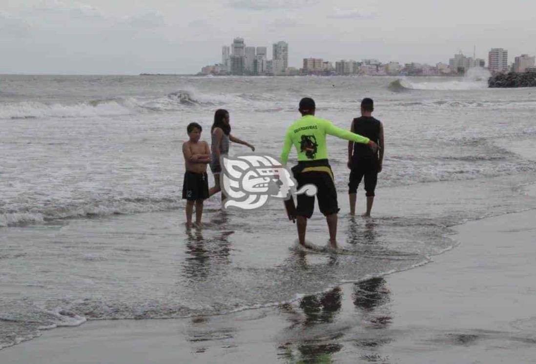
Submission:
<svg viewBox="0 0 536 364">
<path fill-rule="evenodd" d="M 242 144 L 251 148 L 255 151 L 255 147 L 250 143 L 240 140 L 231 135 L 231 126 L 229 124 L 229 112 L 224 109 L 218 109 L 214 113 L 214 124 L 211 128 L 211 162 L 210 170 L 214 175 L 214 187 L 209 190 L 209 196 L 212 196 L 215 193 L 221 191 L 220 187 L 220 173 L 221 173 L 221 164 L 220 156 L 229 154 L 229 142 L 234 142 Z M 221 200 L 225 199 L 224 193 L 221 194 Z"/>
</svg>

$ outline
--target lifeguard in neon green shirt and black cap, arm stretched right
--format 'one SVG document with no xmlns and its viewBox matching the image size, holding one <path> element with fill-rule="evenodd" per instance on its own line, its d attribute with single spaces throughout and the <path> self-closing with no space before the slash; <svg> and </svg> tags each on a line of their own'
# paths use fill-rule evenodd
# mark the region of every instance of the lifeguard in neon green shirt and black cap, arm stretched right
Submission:
<svg viewBox="0 0 536 364">
<path fill-rule="evenodd" d="M 297 188 L 300 189 L 307 184 L 316 186 L 318 206 L 322 214 L 326 216 L 330 232 L 330 244 L 336 248 L 339 207 L 333 172 L 327 160 L 326 135 L 367 144 L 373 150 L 376 150 L 378 146 L 366 137 L 334 126 L 329 120 L 315 117 L 316 105 L 312 98 L 302 98 L 299 111 L 302 117 L 287 129 L 281 152 L 281 163 L 287 164 L 288 155 L 294 145 L 298 153 L 298 164 L 292 168 L 292 172 L 298 183 Z M 306 194 L 297 196 L 296 220 L 298 239 L 302 246 L 305 246 L 307 219 L 312 216 L 314 206 L 314 196 Z"/>
</svg>

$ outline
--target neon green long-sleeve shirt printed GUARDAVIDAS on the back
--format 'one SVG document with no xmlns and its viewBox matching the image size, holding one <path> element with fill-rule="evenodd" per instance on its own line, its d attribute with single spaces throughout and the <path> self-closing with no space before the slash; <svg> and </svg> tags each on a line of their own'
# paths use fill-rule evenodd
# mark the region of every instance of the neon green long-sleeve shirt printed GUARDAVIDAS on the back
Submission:
<svg viewBox="0 0 536 364">
<path fill-rule="evenodd" d="M 327 159 L 326 134 L 356 143 L 369 142 L 368 138 L 341 129 L 329 120 L 306 115 L 288 127 L 281 152 L 281 163 L 287 164 L 292 145 L 296 147 L 299 162 Z"/>
</svg>

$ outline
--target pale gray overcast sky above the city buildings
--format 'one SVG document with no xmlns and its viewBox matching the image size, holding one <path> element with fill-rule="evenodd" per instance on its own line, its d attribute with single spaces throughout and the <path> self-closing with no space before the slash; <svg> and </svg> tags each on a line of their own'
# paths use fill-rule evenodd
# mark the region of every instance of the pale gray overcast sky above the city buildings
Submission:
<svg viewBox="0 0 536 364">
<path fill-rule="evenodd" d="M 498 5 L 502 4 L 502 5 Z M 536 54 L 536 1 L 0 0 L 0 73 L 197 73 L 221 46 L 436 64 L 458 51 Z"/>
</svg>

